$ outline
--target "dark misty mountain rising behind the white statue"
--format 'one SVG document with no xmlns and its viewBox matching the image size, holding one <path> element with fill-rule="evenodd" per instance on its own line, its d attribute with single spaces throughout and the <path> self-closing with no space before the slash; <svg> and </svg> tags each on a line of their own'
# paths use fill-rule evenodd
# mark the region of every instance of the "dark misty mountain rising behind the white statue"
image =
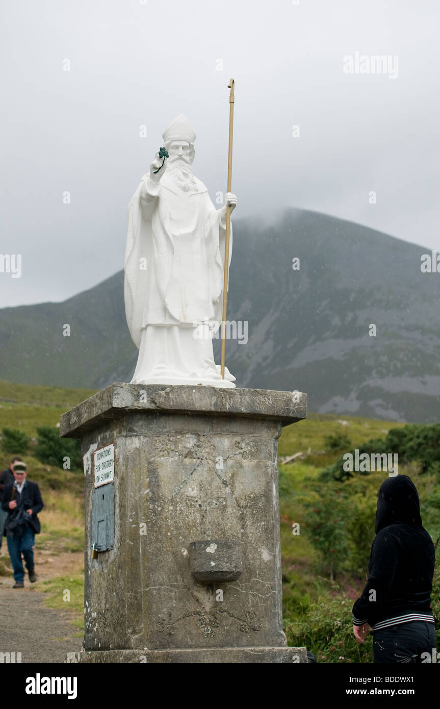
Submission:
<svg viewBox="0 0 440 709">
<path fill-rule="evenodd" d="M 439 420 L 440 274 L 422 273 L 426 252 L 310 211 L 234 220 L 237 386 L 305 391 L 320 413 Z M 220 363 L 220 340 L 214 351 Z M 63 303 L 0 310 L 0 379 L 101 389 L 130 381 L 136 359 L 122 271 Z"/>
</svg>

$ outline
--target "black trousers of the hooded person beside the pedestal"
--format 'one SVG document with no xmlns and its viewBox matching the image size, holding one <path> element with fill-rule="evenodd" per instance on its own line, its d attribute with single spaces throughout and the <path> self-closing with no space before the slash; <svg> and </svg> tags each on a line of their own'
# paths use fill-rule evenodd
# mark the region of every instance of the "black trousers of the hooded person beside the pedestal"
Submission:
<svg viewBox="0 0 440 709">
<path fill-rule="evenodd" d="M 434 623 L 413 620 L 411 623 L 392 625 L 373 632 L 375 663 L 421 664 L 423 661 L 436 662 L 436 652 L 433 652 L 435 649 Z"/>
</svg>

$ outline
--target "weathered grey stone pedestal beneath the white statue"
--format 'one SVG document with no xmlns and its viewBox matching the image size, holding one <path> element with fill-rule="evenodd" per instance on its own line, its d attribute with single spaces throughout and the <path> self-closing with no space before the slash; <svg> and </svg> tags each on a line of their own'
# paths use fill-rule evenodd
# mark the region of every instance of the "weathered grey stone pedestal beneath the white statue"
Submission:
<svg viewBox="0 0 440 709">
<path fill-rule="evenodd" d="M 307 661 L 283 633 L 277 463 L 306 409 L 298 392 L 112 384 L 62 416 L 86 513 L 84 651 L 68 661 Z M 95 488 L 111 444 L 114 479 Z M 113 548 L 92 559 L 97 523 Z"/>
</svg>

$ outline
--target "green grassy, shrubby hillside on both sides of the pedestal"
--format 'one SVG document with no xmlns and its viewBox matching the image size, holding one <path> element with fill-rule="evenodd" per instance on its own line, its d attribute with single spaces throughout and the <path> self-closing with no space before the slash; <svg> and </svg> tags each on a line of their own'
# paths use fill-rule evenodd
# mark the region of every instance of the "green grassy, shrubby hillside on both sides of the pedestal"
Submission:
<svg viewBox="0 0 440 709">
<path fill-rule="evenodd" d="M 53 389 L 0 382 L 0 428 L 19 428 L 35 437 L 39 425 L 57 425 L 60 415 L 93 394 L 93 390 Z M 320 472 L 334 463 L 342 450 L 359 447 L 366 440 L 384 439 L 390 428 L 403 424 L 337 415 L 309 415 L 283 429 L 280 457 L 297 452 L 296 462 L 280 464 L 281 552 L 284 623 L 288 643 L 305 645 L 318 661 L 371 662 L 371 636 L 366 644 L 354 641 L 351 607 L 366 581 L 374 537 L 376 498 L 388 473 L 355 474 L 344 483 L 320 481 Z M 38 462 L 32 456 L 32 438 L 26 462 L 30 478 L 37 481 L 45 501 L 40 515 L 42 533 L 38 549 L 52 554 L 78 553 L 84 547 L 84 478 L 81 472 L 64 471 Z M 0 454 L 2 469 L 10 454 Z M 24 457 L 24 456 L 23 456 Z M 419 491 L 422 519 L 434 542 L 440 535 L 440 475 L 421 474 L 417 462 L 400 473 L 410 475 Z M 331 512 L 329 554 L 314 542 L 313 528 L 322 513 Z M 293 535 L 293 525 L 300 533 Z M 332 548 L 334 545 L 334 549 Z M 437 547 L 439 551 L 440 545 Z M 6 557 L 0 574 L 8 573 Z M 433 593 L 433 610 L 440 618 L 439 575 Z M 77 625 L 81 627 L 84 597 L 81 569 L 35 584 L 47 592 L 47 604 L 65 608 L 63 593 L 69 589 Z"/>
</svg>

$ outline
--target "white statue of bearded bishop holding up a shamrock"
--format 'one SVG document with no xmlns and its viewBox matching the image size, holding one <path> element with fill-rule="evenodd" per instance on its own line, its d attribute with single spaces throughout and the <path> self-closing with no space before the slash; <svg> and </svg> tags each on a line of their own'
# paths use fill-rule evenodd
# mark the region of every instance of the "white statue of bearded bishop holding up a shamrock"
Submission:
<svg viewBox="0 0 440 709">
<path fill-rule="evenodd" d="M 235 387 L 213 356 L 222 320 L 226 207 L 215 209 L 193 176 L 196 134 L 185 116 L 162 133 L 169 157 L 157 153 L 128 205 L 125 314 L 139 349 L 132 384 Z"/>
</svg>

